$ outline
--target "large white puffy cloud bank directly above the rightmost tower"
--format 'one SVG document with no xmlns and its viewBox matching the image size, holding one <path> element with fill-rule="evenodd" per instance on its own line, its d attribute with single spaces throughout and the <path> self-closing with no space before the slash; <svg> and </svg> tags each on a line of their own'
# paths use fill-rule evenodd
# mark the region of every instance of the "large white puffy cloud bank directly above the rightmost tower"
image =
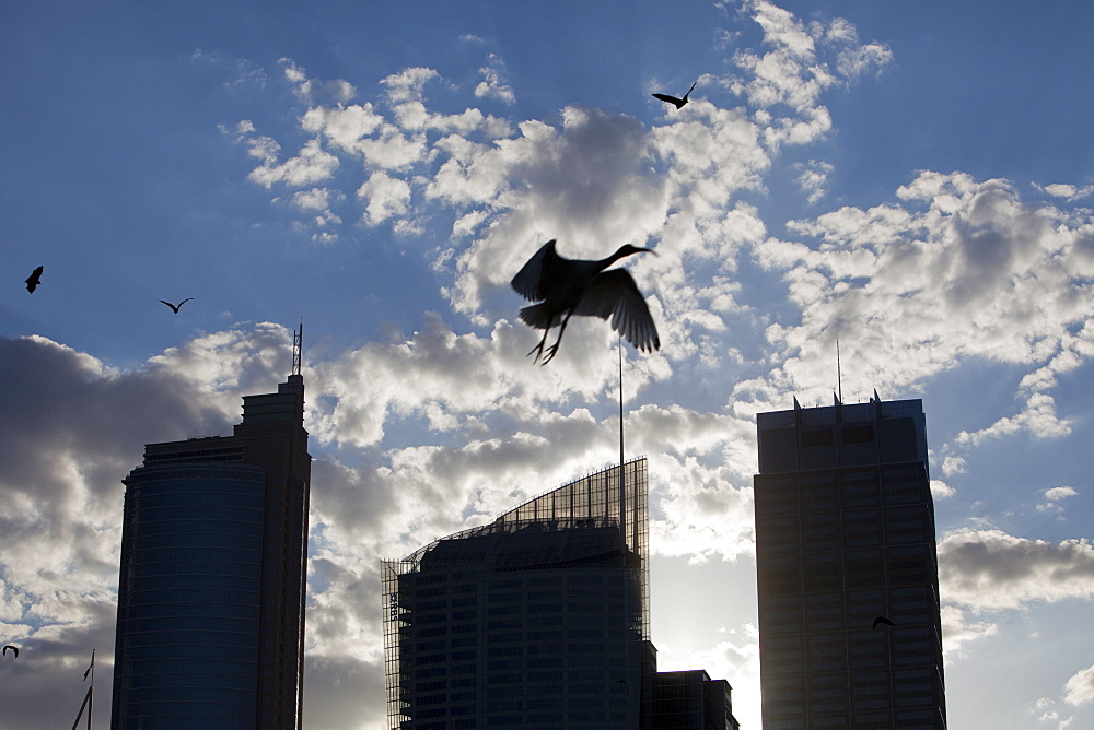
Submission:
<svg viewBox="0 0 1094 730">
<path fill-rule="evenodd" d="M 857 363 L 852 388 L 864 392 L 877 382 L 906 388 L 964 358 L 1031 372 L 1052 362 L 1073 367 L 1072 357 L 1089 362 L 1083 292 L 1091 262 L 1081 216 L 1025 202 L 1005 180 L 958 173 L 921 173 L 896 197 L 903 204 L 846 207 L 788 224 L 815 243 L 769 238 L 755 248 L 761 266 L 782 272 L 802 309 L 801 325 L 767 332 L 787 349 L 783 367 L 795 381 L 827 380 L 827 353 L 840 335 Z M 1070 333 L 1076 327 L 1078 337 Z M 1066 361 L 1061 352 L 1070 353 Z M 954 446 L 1069 432 L 1050 395 L 1031 381 L 1023 390 L 1019 413 L 961 434 Z"/>
</svg>

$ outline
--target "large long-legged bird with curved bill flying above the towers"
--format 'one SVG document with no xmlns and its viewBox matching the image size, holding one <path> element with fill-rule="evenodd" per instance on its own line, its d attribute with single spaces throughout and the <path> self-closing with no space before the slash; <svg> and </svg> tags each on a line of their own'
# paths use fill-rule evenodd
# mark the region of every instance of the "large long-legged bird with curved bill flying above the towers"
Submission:
<svg viewBox="0 0 1094 730">
<path fill-rule="evenodd" d="M 551 361 L 573 315 L 610 318 L 612 329 L 639 350 L 661 349 L 657 328 L 635 280 L 626 269 L 605 271 L 625 256 L 641 252 L 654 254 L 649 248 L 627 244 L 606 259 L 567 259 L 555 251 L 552 238 L 528 259 L 511 283 L 517 294 L 537 303 L 521 309 L 525 325 L 544 330 L 539 344 L 528 351 L 528 355 L 536 353 L 533 363 L 540 357 L 544 365 Z M 559 328 L 558 339 L 544 350 L 552 327 Z"/>
</svg>

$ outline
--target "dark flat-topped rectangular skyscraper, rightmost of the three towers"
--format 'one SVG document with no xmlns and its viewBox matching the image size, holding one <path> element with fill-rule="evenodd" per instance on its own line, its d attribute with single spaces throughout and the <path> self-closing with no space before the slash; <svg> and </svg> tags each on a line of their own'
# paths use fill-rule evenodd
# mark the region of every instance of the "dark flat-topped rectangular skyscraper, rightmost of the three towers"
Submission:
<svg viewBox="0 0 1094 730">
<path fill-rule="evenodd" d="M 757 426 L 764 730 L 945 728 L 922 401 L 795 400 Z"/>
</svg>

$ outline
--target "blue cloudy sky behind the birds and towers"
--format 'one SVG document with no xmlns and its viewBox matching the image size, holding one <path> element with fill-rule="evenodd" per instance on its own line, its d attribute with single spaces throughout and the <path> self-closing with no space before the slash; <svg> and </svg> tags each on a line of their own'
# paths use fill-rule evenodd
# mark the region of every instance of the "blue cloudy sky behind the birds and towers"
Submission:
<svg viewBox="0 0 1094 730">
<path fill-rule="evenodd" d="M 120 480 L 230 434 L 301 322 L 304 723 L 385 727 L 380 560 L 618 458 L 609 327 L 525 356 L 550 238 L 659 254 L 622 262 L 662 343 L 622 390 L 662 670 L 760 727 L 755 415 L 876 389 L 927 414 L 951 727 L 1094 727 L 1094 5 L 0 19 L 0 728 L 67 727 L 93 649 L 107 721 Z"/>
</svg>

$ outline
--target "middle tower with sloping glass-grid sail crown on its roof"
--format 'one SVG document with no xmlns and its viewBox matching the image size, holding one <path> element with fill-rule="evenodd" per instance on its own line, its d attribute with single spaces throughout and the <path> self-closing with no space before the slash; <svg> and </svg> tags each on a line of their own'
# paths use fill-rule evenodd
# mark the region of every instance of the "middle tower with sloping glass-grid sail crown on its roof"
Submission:
<svg viewBox="0 0 1094 730">
<path fill-rule="evenodd" d="M 384 563 L 389 726 L 650 727 L 645 460 Z"/>
</svg>

